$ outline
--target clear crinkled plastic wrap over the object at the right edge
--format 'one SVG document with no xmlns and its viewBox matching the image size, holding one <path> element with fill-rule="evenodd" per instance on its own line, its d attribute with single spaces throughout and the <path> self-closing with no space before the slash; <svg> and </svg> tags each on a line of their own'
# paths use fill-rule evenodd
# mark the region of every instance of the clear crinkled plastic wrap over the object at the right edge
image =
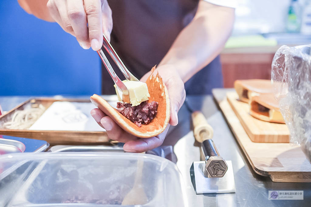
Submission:
<svg viewBox="0 0 311 207">
<path fill-rule="evenodd" d="M 301 146 L 311 163 L 311 45 L 280 47 L 272 61 L 271 81 L 290 142 Z"/>
</svg>

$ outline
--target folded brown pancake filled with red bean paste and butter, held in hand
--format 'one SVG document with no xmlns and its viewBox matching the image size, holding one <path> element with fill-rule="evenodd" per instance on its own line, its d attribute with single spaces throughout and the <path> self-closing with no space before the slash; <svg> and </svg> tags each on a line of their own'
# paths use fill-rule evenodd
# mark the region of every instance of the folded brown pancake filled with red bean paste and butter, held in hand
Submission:
<svg viewBox="0 0 311 207">
<path fill-rule="evenodd" d="M 123 81 L 128 88 L 130 103 L 123 103 L 118 91 L 117 108 L 94 94 L 91 102 L 111 117 L 123 130 L 142 138 L 154 137 L 164 131 L 170 118 L 169 94 L 159 73 L 151 69 L 146 83 Z"/>
</svg>

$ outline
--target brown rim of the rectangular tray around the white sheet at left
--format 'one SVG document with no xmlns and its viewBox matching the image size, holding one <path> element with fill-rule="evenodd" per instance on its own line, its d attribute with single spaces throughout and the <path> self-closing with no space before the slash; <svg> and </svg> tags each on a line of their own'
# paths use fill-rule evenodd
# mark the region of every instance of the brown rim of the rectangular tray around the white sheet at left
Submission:
<svg viewBox="0 0 311 207">
<path fill-rule="evenodd" d="M 48 130 L 29 130 L 25 129 L 5 129 L 3 124 L 12 119 L 17 110 L 24 110 L 31 107 L 32 104 L 42 104 L 45 110 L 52 105 L 54 101 L 69 102 L 91 102 L 87 99 L 53 99 L 53 98 L 32 98 L 21 103 L 6 114 L 0 116 L 0 134 L 41 139 L 50 143 L 51 146 L 57 144 L 100 144 L 109 142 L 106 132 L 96 131 L 48 131 Z"/>
</svg>

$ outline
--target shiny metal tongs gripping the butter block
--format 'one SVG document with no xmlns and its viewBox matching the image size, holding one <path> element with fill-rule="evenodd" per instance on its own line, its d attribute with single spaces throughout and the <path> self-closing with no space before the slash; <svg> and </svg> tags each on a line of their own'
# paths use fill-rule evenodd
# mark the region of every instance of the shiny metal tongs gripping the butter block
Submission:
<svg viewBox="0 0 311 207">
<path fill-rule="evenodd" d="M 114 80 L 114 83 L 117 87 L 118 93 L 120 97 L 122 97 L 122 101 L 124 103 L 130 102 L 129 92 L 128 88 L 124 85 L 124 83 L 121 81 L 121 79 L 118 77 L 118 75 L 114 72 L 114 69 L 110 65 L 107 57 L 105 56 L 103 52 L 103 48 L 108 52 L 110 57 L 114 60 L 115 64 L 118 66 L 118 68 L 121 70 L 122 74 L 124 75 L 125 79 L 132 80 L 132 81 L 139 81 L 123 64 L 121 59 L 119 58 L 118 54 L 114 51 L 114 48 L 110 45 L 107 38 L 103 34 L 104 41 L 103 46 L 100 48 L 100 50 L 97 51 L 98 55 L 100 56 L 101 61 L 103 61 L 106 69 L 108 70 L 108 73 L 110 74 L 111 78 Z"/>
</svg>

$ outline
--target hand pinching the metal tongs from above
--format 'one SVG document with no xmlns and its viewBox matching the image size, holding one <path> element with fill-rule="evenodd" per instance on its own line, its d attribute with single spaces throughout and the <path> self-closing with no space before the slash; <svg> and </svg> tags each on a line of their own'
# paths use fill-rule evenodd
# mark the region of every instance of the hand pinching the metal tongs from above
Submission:
<svg viewBox="0 0 311 207">
<path fill-rule="evenodd" d="M 83 49 L 97 51 L 103 45 L 103 33 L 110 40 L 112 12 L 107 0 L 49 0 L 50 15 L 77 38 Z"/>
</svg>

